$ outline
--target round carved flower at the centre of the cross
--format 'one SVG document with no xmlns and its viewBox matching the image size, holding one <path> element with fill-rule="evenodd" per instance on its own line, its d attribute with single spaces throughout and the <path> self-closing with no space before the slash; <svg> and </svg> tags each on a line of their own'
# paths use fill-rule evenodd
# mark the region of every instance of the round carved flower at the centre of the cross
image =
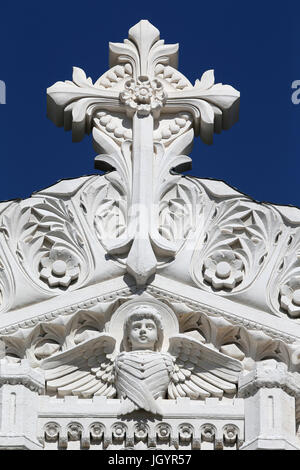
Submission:
<svg viewBox="0 0 300 470">
<path fill-rule="evenodd" d="M 148 116 L 151 112 L 157 113 L 166 98 L 161 82 L 156 79 L 150 82 L 147 76 L 140 76 L 137 81 L 128 80 L 125 90 L 120 93 L 122 103 L 143 116 Z"/>
</svg>

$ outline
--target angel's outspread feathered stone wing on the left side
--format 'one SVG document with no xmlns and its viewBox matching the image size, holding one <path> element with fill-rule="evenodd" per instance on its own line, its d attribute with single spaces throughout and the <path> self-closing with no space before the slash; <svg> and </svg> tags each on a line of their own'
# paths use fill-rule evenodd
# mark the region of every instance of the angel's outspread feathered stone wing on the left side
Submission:
<svg viewBox="0 0 300 470">
<path fill-rule="evenodd" d="M 45 370 L 46 390 L 59 397 L 104 395 L 113 398 L 116 395 L 114 363 L 107 354 L 113 352 L 115 342 L 112 336 L 101 333 L 45 359 L 41 367 Z"/>
</svg>

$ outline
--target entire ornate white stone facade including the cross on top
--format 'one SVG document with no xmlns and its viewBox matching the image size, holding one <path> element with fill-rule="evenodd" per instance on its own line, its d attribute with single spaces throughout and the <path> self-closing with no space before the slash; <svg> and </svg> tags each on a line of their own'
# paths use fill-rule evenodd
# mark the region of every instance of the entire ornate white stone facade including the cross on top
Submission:
<svg viewBox="0 0 300 470">
<path fill-rule="evenodd" d="M 239 93 L 143 20 L 48 89 L 102 176 L 0 204 L 0 448 L 300 448 L 300 211 L 181 176 Z"/>
</svg>

